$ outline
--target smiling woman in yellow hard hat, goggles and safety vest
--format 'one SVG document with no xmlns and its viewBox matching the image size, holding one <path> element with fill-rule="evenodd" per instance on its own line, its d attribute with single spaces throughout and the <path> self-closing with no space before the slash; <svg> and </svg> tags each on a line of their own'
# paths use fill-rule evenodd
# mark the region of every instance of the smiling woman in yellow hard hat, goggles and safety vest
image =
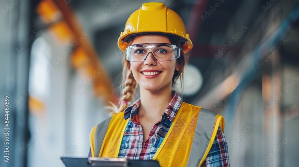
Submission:
<svg viewBox="0 0 299 167">
<path fill-rule="evenodd" d="M 119 106 L 90 133 L 89 157 L 158 160 L 161 166 L 229 166 L 221 115 L 182 101 L 192 49 L 181 18 L 165 4 L 145 3 L 128 18 L 118 46 L 125 51 Z M 140 98 L 128 104 L 137 86 Z M 181 83 L 181 87 L 182 83 Z"/>
</svg>

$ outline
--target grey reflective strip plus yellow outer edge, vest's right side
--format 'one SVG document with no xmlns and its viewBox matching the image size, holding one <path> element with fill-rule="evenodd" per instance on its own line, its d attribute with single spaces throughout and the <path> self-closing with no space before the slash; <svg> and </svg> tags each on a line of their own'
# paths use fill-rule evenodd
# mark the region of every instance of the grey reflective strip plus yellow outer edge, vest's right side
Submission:
<svg viewBox="0 0 299 167">
<path fill-rule="evenodd" d="M 224 132 L 224 118 L 207 109 L 201 108 L 193 136 L 187 166 L 200 166 L 210 151 L 218 127 Z M 201 158 L 202 157 L 202 158 Z"/>
</svg>

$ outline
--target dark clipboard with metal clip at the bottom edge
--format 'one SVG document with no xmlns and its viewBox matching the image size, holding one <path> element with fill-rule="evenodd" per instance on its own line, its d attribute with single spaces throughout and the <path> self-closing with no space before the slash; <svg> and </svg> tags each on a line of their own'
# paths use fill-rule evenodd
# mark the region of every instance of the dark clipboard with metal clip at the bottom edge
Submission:
<svg viewBox="0 0 299 167">
<path fill-rule="evenodd" d="M 160 167 L 157 160 L 126 160 L 125 158 L 60 157 L 66 167 Z"/>
</svg>

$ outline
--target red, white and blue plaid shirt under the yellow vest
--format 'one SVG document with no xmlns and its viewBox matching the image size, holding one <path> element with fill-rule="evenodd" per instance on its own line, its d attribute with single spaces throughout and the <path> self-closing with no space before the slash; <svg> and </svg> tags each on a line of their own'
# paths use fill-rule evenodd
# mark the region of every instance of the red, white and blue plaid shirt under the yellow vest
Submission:
<svg viewBox="0 0 299 167">
<path fill-rule="evenodd" d="M 151 129 L 149 137 L 144 143 L 143 132 L 137 118 L 137 111 L 140 104 L 140 98 L 128 106 L 124 111 L 124 119 L 128 119 L 123 139 L 120 145 L 118 157 L 130 160 L 152 160 L 164 137 L 166 136 L 177 111 L 183 100 L 176 91 L 172 91 L 173 98 L 167 106 L 161 120 Z M 91 150 L 89 155 L 91 157 Z M 218 128 L 213 145 L 201 167 L 229 166 L 228 146 L 221 128 Z"/>
</svg>

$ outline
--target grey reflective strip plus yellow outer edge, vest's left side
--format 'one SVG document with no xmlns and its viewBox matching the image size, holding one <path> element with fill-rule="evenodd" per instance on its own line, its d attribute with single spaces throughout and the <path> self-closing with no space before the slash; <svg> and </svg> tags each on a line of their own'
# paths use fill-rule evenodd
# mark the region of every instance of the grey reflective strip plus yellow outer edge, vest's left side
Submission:
<svg viewBox="0 0 299 167">
<path fill-rule="evenodd" d="M 98 157 L 102 148 L 108 125 L 112 117 L 103 120 L 91 129 L 90 132 L 90 149 L 92 157 Z"/>
</svg>

